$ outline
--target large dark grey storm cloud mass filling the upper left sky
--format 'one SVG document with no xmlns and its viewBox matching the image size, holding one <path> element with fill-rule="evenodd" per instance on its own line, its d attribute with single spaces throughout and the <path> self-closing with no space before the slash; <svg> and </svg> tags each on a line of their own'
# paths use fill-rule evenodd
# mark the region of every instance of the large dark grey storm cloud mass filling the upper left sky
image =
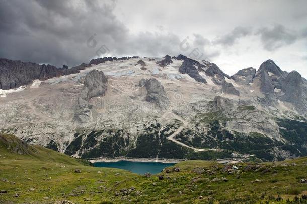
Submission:
<svg viewBox="0 0 307 204">
<path fill-rule="evenodd" d="M 175 34 L 130 34 L 114 8 L 114 1 L 3 1 L 0 57 L 72 66 L 104 55 L 180 52 Z"/>
</svg>

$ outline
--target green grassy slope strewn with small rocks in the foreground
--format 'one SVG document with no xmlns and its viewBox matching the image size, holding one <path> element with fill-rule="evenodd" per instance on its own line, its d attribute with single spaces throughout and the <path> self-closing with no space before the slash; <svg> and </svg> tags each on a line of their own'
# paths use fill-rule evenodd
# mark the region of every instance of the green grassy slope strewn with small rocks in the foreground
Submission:
<svg viewBox="0 0 307 204">
<path fill-rule="evenodd" d="M 285 163 L 288 165 L 281 165 Z M 124 170 L 86 166 L 74 158 L 38 146 L 30 151 L 30 155 L 14 154 L 0 140 L 0 179 L 8 180 L 0 180 L 0 190 L 8 191 L 0 194 L 0 202 L 54 203 L 70 200 L 74 203 L 119 203 L 131 200 L 132 203 L 235 203 L 252 200 L 256 203 L 285 203 L 287 198 L 293 200 L 295 194 L 307 194 L 307 184 L 299 183 L 300 179 L 307 178 L 306 157 L 274 164 L 263 163 L 257 171 L 243 170 L 246 165 L 237 165 L 241 173 L 228 174 L 222 170 L 223 165 L 215 162 L 185 161 L 176 165 L 180 167 L 180 172 L 160 173 L 165 179 L 159 180 L 157 175 L 145 178 Z M 270 171 L 262 173 L 267 166 L 271 167 Z M 205 169 L 205 173 L 194 173 L 196 167 Z M 74 173 L 77 168 L 82 173 Z M 237 178 L 238 175 L 240 178 Z M 226 177 L 228 182 L 212 182 L 215 177 Z M 196 180 L 191 182 L 193 179 Z M 255 182 L 255 179 L 261 181 Z M 129 195 L 115 196 L 120 189 L 131 186 L 136 189 Z M 142 194 L 136 195 L 136 191 Z M 16 193 L 20 197 L 13 197 Z M 281 202 L 273 198 L 279 194 L 283 198 Z M 198 198 L 200 195 L 202 199 Z"/>
</svg>

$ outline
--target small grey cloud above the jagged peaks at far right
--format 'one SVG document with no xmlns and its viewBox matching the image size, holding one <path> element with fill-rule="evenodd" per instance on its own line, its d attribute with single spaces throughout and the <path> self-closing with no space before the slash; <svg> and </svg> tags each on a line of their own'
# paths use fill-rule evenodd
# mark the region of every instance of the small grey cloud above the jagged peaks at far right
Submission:
<svg viewBox="0 0 307 204">
<path fill-rule="evenodd" d="M 284 45 L 290 45 L 297 39 L 297 34 L 294 31 L 279 24 L 271 28 L 262 27 L 256 32 L 256 35 L 260 35 L 261 42 L 268 51 L 273 51 Z"/>
</svg>

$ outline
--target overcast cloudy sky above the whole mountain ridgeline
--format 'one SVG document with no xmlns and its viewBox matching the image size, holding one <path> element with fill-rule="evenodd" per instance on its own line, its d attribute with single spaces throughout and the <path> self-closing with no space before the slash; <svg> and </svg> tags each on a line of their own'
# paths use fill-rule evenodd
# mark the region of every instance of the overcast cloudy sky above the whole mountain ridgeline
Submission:
<svg viewBox="0 0 307 204">
<path fill-rule="evenodd" d="M 0 58 L 69 67 L 184 54 L 226 74 L 272 59 L 307 78 L 302 0 L 0 0 Z"/>
</svg>

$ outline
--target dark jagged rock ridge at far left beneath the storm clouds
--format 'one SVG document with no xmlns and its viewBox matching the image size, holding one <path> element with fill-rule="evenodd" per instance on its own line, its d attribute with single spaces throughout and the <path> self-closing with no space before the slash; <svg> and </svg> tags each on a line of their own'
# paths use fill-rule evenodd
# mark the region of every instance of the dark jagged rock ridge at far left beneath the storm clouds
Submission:
<svg viewBox="0 0 307 204">
<path fill-rule="evenodd" d="M 78 69 L 57 69 L 49 64 L 0 59 L 0 89 L 14 89 L 28 85 L 36 79 L 43 81 L 79 72 Z"/>
</svg>

